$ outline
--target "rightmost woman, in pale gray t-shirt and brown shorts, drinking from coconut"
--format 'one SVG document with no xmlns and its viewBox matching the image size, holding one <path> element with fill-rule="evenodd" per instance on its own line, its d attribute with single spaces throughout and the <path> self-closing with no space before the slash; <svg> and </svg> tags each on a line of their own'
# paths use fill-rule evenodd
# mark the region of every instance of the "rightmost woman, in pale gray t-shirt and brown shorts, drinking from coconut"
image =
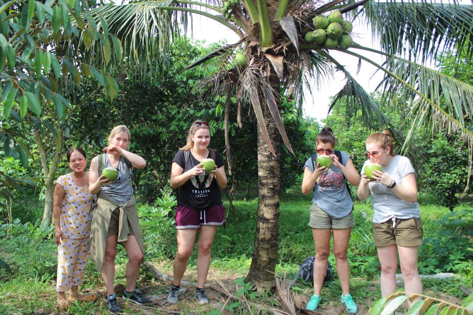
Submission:
<svg viewBox="0 0 473 315">
<path fill-rule="evenodd" d="M 388 130 L 373 133 L 366 140 L 366 157 L 361 170 L 358 198 L 373 199 L 374 245 L 381 264 L 381 295 L 396 291 L 396 271 L 401 262 L 406 292 L 422 293 L 417 270 L 417 255 L 422 244 L 422 222 L 417 204 L 415 171 L 409 159 L 394 155 L 393 139 Z M 365 174 L 371 164 L 382 166 Z M 367 169 L 367 172 L 370 173 Z M 414 301 L 408 301 L 411 305 Z"/>
</svg>

